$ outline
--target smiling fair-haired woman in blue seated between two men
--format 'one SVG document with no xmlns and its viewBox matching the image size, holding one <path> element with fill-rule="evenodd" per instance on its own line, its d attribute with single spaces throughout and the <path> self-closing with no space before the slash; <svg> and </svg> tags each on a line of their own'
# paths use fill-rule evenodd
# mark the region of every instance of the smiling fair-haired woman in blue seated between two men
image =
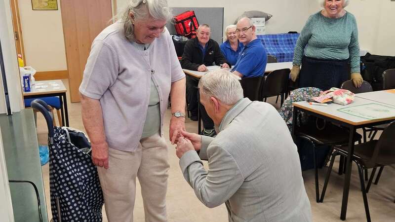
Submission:
<svg viewBox="0 0 395 222">
<path fill-rule="evenodd" d="M 220 48 L 226 60 L 234 66 L 237 62 L 238 54 L 243 50 L 244 45 L 238 41 L 236 33 L 236 25 L 229 25 L 226 27 L 225 41 Z"/>
</svg>

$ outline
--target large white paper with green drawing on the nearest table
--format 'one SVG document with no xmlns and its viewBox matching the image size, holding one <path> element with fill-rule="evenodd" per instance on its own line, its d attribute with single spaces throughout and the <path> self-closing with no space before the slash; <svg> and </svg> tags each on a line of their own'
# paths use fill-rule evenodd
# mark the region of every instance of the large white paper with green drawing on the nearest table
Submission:
<svg viewBox="0 0 395 222">
<path fill-rule="evenodd" d="M 338 109 L 338 111 L 365 119 L 383 119 L 395 116 L 395 107 L 384 106 L 377 103 L 341 108 Z"/>
</svg>

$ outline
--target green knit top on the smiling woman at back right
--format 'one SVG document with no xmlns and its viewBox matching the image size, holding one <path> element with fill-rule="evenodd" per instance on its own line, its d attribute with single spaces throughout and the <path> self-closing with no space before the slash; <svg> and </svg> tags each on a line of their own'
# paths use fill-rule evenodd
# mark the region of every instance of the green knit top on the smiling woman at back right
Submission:
<svg viewBox="0 0 395 222">
<path fill-rule="evenodd" d="M 296 42 L 293 63 L 302 63 L 303 55 L 316 59 L 350 58 L 351 73 L 360 73 L 354 15 L 346 12 L 336 19 L 325 17 L 320 11 L 311 15 Z"/>
</svg>

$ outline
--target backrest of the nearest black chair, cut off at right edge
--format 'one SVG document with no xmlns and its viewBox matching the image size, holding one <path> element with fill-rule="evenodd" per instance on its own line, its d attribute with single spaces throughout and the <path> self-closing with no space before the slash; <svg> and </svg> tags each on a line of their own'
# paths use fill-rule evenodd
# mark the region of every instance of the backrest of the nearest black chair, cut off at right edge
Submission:
<svg viewBox="0 0 395 222">
<path fill-rule="evenodd" d="M 394 138 L 395 121 L 390 123 L 390 125 L 384 129 L 379 141 L 376 144 L 376 147 L 374 148 L 372 158 L 366 162 L 367 167 L 374 167 L 377 164 L 380 165 L 395 163 Z M 380 159 L 381 156 L 385 156 L 385 158 Z"/>
</svg>

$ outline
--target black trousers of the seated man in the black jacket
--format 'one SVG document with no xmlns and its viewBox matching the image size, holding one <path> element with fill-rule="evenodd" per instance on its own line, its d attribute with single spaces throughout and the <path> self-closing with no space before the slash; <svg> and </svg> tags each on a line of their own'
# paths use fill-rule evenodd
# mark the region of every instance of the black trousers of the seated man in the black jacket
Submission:
<svg viewBox="0 0 395 222">
<path fill-rule="evenodd" d="M 203 127 L 205 129 L 214 129 L 214 122 L 208 116 L 204 106 L 200 104 L 199 90 L 197 84 L 199 79 L 187 75 L 187 99 L 188 99 L 188 111 L 191 111 L 191 115 L 197 115 L 197 103 L 199 103 L 199 111 L 201 120 L 203 121 Z"/>
</svg>

